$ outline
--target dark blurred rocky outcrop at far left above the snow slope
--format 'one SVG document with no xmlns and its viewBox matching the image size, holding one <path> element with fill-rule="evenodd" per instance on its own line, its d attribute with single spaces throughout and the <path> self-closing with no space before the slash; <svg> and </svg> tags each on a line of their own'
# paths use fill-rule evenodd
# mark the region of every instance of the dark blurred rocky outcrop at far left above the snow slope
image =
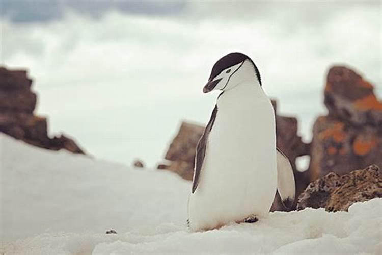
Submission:
<svg viewBox="0 0 382 255">
<path fill-rule="evenodd" d="M 37 96 L 31 85 L 26 71 L 0 67 L 0 132 L 38 147 L 84 154 L 65 135 L 48 137 L 46 118 L 34 115 Z"/>
</svg>

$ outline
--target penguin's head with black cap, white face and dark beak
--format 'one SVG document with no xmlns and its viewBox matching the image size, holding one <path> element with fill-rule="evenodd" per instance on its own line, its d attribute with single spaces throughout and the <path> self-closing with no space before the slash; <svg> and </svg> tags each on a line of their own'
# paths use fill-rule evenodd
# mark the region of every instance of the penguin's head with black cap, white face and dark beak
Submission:
<svg viewBox="0 0 382 255">
<path fill-rule="evenodd" d="M 238 52 L 230 53 L 213 65 L 203 92 L 229 90 L 245 80 L 255 80 L 261 86 L 259 70 L 247 55 Z"/>
</svg>

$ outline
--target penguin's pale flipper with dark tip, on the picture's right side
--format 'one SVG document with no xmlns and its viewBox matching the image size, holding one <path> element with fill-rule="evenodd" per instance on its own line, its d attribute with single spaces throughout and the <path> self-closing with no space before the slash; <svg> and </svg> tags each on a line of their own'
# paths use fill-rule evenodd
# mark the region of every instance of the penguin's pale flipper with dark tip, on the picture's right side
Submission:
<svg viewBox="0 0 382 255">
<path fill-rule="evenodd" d="M 294 174 L 289 159 L 283 152 L 277 150 L 277 190 L 283 202 L 283 205 L 290 209 L 294 202 L 296 192 L 294 183 Z"/>
</svg>

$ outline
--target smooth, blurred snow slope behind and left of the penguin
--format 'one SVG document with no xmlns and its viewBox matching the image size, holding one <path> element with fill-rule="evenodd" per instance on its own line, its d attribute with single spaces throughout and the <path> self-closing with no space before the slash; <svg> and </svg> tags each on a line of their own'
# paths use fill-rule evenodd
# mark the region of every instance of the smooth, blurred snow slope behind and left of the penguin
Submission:
<svg viewBox="0 0 382 255">
<path fill-rule="evenodd" d="M 0 238 L 43 232 L 102 234 L 184 223 L 190 183 L 171 172 L 134 169 L 39 149 L 0 133 Z"/>
</svg>

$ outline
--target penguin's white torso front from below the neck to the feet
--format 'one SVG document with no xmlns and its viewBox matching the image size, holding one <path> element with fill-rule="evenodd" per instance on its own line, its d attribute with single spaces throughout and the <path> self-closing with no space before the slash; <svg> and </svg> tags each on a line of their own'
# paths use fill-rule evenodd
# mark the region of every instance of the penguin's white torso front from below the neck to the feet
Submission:
<svg viewBox="0 0 382 255">
<path fill-rule="evenodd" d="M 200 182 L 189 197 L 193 230 L 268 214 L 276 192 L 275 116 L 270 100 L 220 98 L 217 107 Z"/>
</svg>

